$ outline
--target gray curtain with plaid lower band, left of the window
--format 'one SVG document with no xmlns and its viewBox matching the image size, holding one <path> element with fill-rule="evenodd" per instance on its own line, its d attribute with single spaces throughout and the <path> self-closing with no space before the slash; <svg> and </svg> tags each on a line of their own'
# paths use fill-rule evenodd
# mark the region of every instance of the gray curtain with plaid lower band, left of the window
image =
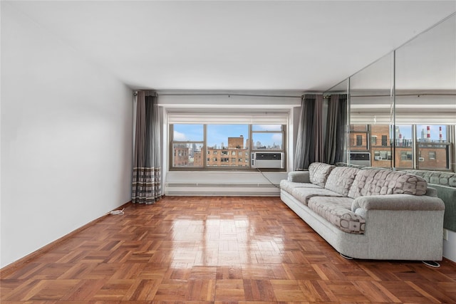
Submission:
<svg viewBox="0 0 456 304">
<path fill-rule="evenodd" d="M 138 92 L 132 202 L 154 204 L 161 194 L 160 116 L 157 97 Z"/>
</svg>

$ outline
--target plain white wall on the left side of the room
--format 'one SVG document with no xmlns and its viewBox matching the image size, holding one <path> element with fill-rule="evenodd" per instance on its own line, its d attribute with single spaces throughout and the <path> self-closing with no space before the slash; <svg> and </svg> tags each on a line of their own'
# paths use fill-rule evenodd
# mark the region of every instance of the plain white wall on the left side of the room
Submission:
<svg viewBox="0 0 456 304">
<path fill-rule="evenodd" d="M 1 1 L 1 267 L 130 200 L 132 94 Z"/>
</svg>

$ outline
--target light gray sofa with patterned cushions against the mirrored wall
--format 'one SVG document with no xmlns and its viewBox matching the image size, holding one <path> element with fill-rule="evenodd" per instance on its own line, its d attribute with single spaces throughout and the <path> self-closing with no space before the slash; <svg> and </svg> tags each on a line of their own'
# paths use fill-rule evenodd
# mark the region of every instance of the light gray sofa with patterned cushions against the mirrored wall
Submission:
<svg viewBox="0 0 456 304">
<path fill-rule="evenodd" d="M 442 261 L 445 204 L 421 177 L 312 163 L 281 200 L 343 256 Z"/>
</svg>

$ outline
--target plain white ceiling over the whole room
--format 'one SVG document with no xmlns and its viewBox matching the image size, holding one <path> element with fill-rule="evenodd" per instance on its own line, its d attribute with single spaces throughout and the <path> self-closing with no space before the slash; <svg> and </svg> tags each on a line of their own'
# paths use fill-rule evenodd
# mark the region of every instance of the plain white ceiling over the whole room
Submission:
<svg viewBox="0 0 456 304">
<path fill-rule="evenodd" d="M 456 1 L 2 1 L 133 89 L 321 91 Z"/>
</svg>

